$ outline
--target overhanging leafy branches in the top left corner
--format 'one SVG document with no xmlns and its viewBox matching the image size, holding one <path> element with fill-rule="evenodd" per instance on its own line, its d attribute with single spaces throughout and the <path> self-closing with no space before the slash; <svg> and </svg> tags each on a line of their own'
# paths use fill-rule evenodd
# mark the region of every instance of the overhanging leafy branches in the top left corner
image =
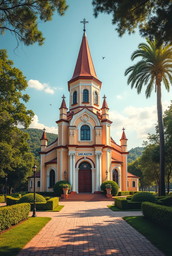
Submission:
<svg viewBox="0 0 172 256">
<path fill-rule="evenodd" d="M 1 0 L 0 32 L 4 35 L 10 31 L 18 44 L 29 46 L 37 42 L 42 46 L 45 38 L 38 30 L 38 23 L 51 21 L 55 12 L 64 16 L 68 7 L 66 0 Z"/>
</svg>

